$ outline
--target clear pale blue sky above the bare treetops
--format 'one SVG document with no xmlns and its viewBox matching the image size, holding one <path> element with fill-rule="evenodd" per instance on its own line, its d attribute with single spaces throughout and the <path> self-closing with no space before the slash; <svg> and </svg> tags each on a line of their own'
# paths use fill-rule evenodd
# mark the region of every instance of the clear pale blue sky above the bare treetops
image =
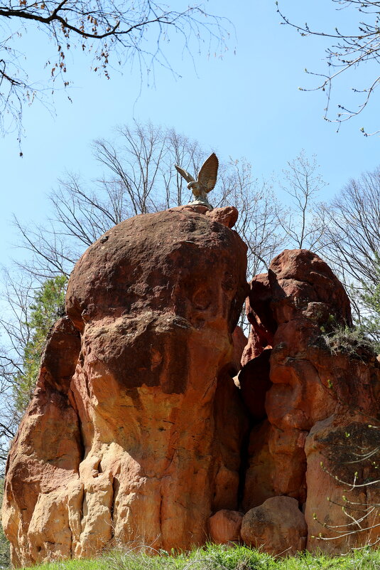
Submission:
<svg viewBox="0 0 380 570">
<path fill-rule="evenodd" d="M 338 21 L 353 27 L 352 12 L 337 14 L 330 0 L 282 0 L 280 4 L 293 19 L 314 23 L 315 28 L 328 26 L 333 31 Z M 259 177 L 280 174 L 286 162 L 305 149 L 309 156 L 317 155 L 329 184 L 325 199 L 349 178 L 378 166 L 379 137 L 366 138 L 359 132 L 362 125 L 369 130 L 380 126 L 378 100 L 374 98 L 364 115 L 337 133 L 334 125 L 322 120 L 323 93 L 298 90 L 313 84 L 305 68 L 325 69 L 322 41 L 301 38 L 295 30 L 281 26 L 272 0 L 210 0 L 207 10 L 234 23 L 236 38 L 229 41 L 223 58 L 209 58 L 206 51 L 195 55 L 195 70 L 174 42 L 168 57 L 182 78 L 156 68 L 155 87 L 143 83 L 139 95 L 137 70 L 112 73 L 107 81 L 89 72 L 80 52 L 73 53 L 69 62 L 75 81 L 72 102 L 65 93 L 57 93 L 55 115 L 38 102 L 25 110 L 22 159 L 16 137 L 8 134 L 0 140 L 0 263 L 16 255 L 11 247 L 17 241 L 12 213 L 23 221 L 43 221 L 48 215 L 46 194 L 57 178 L 65 170 L 81 172 L 88 179 L 96 176 L 92 140 L 112 137 L 116 125 L 134 119 L 173 126 L 215 150 L 221 159 L 245 156 Z M 45 38 L 41 41 L 31 32 L 22 41 L 32 60 L 31 75 L 43 78 L 39 60 L 44 57 Z M 369 70 L 358 73 L 365 79 Z M 337 95 L 352 86 L 352 80 L 342 79 L 336 85 Z"/>
</svg>

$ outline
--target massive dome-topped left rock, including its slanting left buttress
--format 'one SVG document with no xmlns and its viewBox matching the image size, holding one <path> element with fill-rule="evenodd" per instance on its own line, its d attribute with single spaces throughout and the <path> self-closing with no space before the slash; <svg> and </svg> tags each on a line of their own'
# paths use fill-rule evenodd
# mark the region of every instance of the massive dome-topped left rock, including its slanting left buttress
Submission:
<svg viewBox="0 0 380 570">
<path fill-rule="evenodd" d="M 237 233 L 192 209 L 131 218 L 82 255 L 9 456 L 13 564 L 186 549 L 237 509 L 245 271 Z"/>
</svg>

